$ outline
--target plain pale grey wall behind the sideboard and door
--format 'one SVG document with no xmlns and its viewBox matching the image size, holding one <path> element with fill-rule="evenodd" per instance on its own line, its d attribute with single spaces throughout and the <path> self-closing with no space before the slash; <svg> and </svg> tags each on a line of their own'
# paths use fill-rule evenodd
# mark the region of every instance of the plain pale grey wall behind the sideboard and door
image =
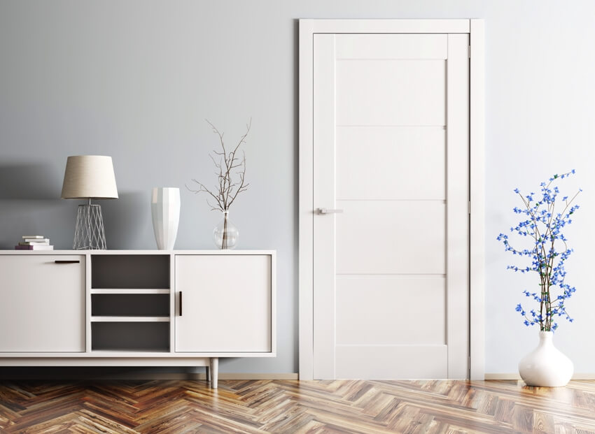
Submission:
<svg viewBox="0 0 595 434">
<path fill-rule="evenodd" d="M 71 245 L 76 201 L 59 200 L 66 156 L 113 157 L 120 191 L 104 201 L 110 248 L 155 247 L 151 187 L 214 180 L 217 146 L 253 118 L 251 187 L 232 208 L 240 247 L 276 249 L 276 359 L 228 372 L 297 372 L 297 24 L 300 17 L 486 20 L 486 370 L 514 372 L 535 344 L 514 312 L 522 282 L 495 237 L 514 223 L 514 187 L 576 168 L 585 189 L 568 231 L 578 288 L 556 341 L 593 372 L 589 247 L 594 235 L 595 3 L 591 1 L 258 0 L 0 2 L 0 247 L 23 233 Z M 218 221 L 182 189 L 181 249 L 211 248 Z M 395 307 L 396 308 L 396 307 Z"/>
</svg>

